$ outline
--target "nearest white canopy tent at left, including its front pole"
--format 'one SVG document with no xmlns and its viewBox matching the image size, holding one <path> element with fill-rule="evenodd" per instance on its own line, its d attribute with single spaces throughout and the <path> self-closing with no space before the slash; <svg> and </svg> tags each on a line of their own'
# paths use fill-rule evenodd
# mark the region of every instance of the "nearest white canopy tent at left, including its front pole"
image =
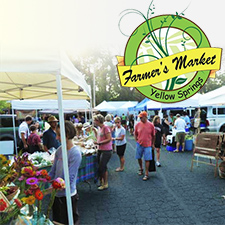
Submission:
<svg viewBox="0 0 225 225">
<path fill-rule="evenodd" d="M 91 99 L 90 87 L 62 51 L 15 49 L 1 45 L 0 53 L 0 100 L 58 99 L 68 219 L 72 225 L 62 99 Z"/>
</svg>

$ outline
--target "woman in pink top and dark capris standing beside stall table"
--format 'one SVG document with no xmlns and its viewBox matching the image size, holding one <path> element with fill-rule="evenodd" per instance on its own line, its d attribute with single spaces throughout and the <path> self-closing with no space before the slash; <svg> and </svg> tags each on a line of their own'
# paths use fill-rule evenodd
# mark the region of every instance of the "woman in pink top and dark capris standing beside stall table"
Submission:
<svg viewBox="0 0 225 225">
<path fill-rule="evenodd" d="M 104 117 L 101 114 L 94 116 L 94 124 L 98 126 L 97 142 L 98 147 L 98 173 L 101 185 L 99 191 L 108 188 L 107 163 L 112 156 L 112 136 L 111 129 L 104 125 Z"/>
</svg>

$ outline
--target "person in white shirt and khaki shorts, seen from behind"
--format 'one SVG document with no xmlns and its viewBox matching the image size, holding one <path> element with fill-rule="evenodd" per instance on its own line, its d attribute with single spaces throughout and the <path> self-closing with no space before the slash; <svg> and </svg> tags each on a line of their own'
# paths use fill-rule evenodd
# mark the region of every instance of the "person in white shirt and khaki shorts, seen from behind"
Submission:
<svg viewBox="0 0 225 225">
<path fill-rule="evenodd" d="M 176 115 L 176 120 L 174 123 L 174 128 L 176 129 L 175 141 L 177 142 L 177 149 L 173 152 L 179 152 L 179 147 L 182 145 L 182 152 L 184 151 L 184 139 L 185 139 L 185 128 L 186 122 L 180 118 L 180 114 Z"/>
</svg>

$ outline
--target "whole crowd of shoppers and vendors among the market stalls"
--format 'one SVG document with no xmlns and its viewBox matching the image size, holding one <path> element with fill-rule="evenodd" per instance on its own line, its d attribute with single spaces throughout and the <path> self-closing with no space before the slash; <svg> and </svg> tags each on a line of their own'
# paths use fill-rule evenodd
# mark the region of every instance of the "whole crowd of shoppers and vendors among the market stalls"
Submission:
<svg viewBox="0 0 225 225">
<path fill-rule="evenodd" d="M 156 115 L 153 117 L 152 122 L 150 122 L 147 112 L 143 111 L 139 113 L 136 124 L 134 123 L 133 115 L 127 117 L 124 114 L 121 117 L 116 116 L 115 118 L 110 114 L 106 115 L 106 117 L 97 114 L 93 117 L 93 124 L 88 122 L 83 123 L 82 116 L 79 116 L 79 119 L 78 117 L 74 117 L 73 119 L 76 125 L 70 121 L 65 122 L 65 134 L 74 224 L 79 223 L 76 179 L 82 159 L 79 148 L 73 144 L 75 136 L 86 136 L 87 139 L 91 138 L 97 145 L 98 178 L 100 181 L 98 190 L 103 191 L 109 188 L 107 165 L 112 157 L 114 148 L 119 158 L 119 167 L 115 171 L 123 172 L 125 170 L 126 130 L 129 130 L 130 135 L 134 135 L 136 141 L 136 159 L 139 165 L 138 174 L 142 176 L 143 181 L 147 181 L 149 179 L 150 162 L 154 161 L 154 151 L 156 151 L 155 165 L 161 166 L 161 145 L 166 145 L 166 136 L 170 133 L 171 127 L 176 129 L 177 145 L 174 152 L 178 152 L 180 146 L 182 146 L 182 151 L 184 151 L 185 129 L 191 127 L 190 119 L 185 112 L 182 118 L 180 114 L 174 116 L 170 113 L 169 117 L 165 115 L 161 120 Z M 50 176 L 52 179 L 57 177 L 64 179 L 62 148 L 60 147 L 60 126 L 55 116 L 50 116 L 47 121 L 50 127 L 43 133 L 42 149 L 41 139 L 38 135 L 39 124 L 36 123 L 29 128 L 29 125 L 32 123 L 32 117 L 27 116 L 19 128 L 21 147 L 25 150 L 28 149 L 29 153 L 41 150 L 49 152 L 51 148 L 57 149 Z M 49 189 L 50 191 L 51 188 Z M 54 221 L 63 224 L 68 223 L 65 190 L 57 193 L 52 210 Z"/>
</svg>

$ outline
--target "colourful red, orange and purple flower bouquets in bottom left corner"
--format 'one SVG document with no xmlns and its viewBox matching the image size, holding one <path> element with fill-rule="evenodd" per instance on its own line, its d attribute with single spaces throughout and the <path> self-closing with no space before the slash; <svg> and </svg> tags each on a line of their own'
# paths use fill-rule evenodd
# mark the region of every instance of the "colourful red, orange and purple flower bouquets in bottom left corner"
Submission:
<svg viewBox="0 0 225 225">
<path fill-rule="evenodd" d="M 7 224 L 11 219 L 18 219 L 18 216 L 20 215 L 24 216 L 24 219 L 26 216 L 30 216 L 29 222 L 31 221 L 32 224 L 51 224 L 49 220 L 50 211 L 56 192 L 65 188 L 64 180 L 61 178 L 51 180 L 48 172 L 44 169 L 38 170 L 32 161 L 28 159 L 27 154 L 15 156 L 14 163 L 11 165 L 9 162 L 5 163 L 5 158 L 2 156 L 1 158 L 9 171 L 16 174 L 16 176 L 14 176 L 14 183 L 18 186 L 19 193 L 17 194 L 16 199 L 11 200 L 11 204 L 7 206 L 4 203 L 5 200 L 0 196 L 0 207 L 2 205 L 2 212 L 4 212 L 0 215 L 0 224 Z M 5 176 L 3 179 L 4 178 Z M 8 179 L 5 180 L 9 181 Z M 2 182 L 2 180 L 0 180 L 0 182 Z M 4 181 L 4 184 L 5 183 L 6 182 Z M 50 184 L 52 184 L 51 187 L 46 188 Z M 5 185 L 2 186 L 1 189 L 4 193 L 7 193 L 9 187 Z M 51 193 L 51 197 L 46 216 L 44 216 L 42 201 L 44 195 L 48 193 Z M 27 212 L 27 210 L 21 210 L 22 208 L 24 209 L 25 206 L 29 208 L 29 212 Z M 23 212 L 23 214 L 21 212 Z"/>
</svg>

